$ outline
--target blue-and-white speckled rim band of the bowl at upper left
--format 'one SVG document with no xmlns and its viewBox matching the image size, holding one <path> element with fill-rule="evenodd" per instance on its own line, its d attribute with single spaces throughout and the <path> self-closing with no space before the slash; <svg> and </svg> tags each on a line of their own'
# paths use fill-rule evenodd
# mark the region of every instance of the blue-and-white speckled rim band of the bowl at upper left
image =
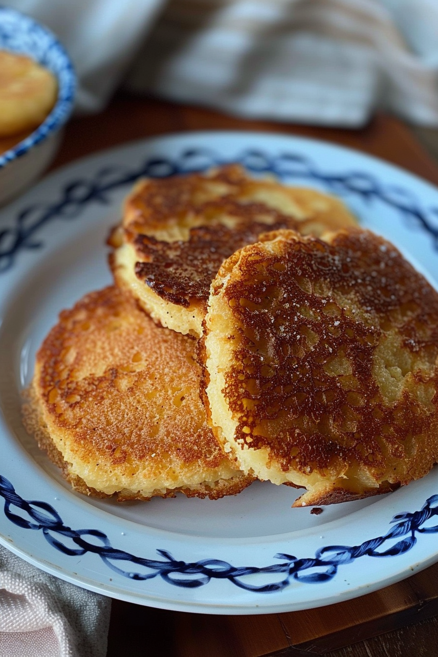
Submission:
<svg viewBox="0 0 438 657">
<path fill-rule="evenodd" d="M 0 154 L 1 170 L 64 125 L 74 106 L 76 75 L 70 57 L 53 32 L 33 18 L 1 5 L 0 49 L 32 57 L 58 80 L 58 99 L 53 110 L 26 139 Z"/>
</svg>

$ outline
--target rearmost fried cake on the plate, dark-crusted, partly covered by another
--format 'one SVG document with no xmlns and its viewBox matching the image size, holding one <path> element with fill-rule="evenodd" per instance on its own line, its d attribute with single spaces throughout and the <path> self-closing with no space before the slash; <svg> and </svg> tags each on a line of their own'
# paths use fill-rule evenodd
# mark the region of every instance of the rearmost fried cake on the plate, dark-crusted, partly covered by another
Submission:
<svg viewBox="0 0 438 657">
<path fill-rule="evenodd" d="M 156 322 L 200 336 L 211 281 L 236 250 L 267 230 L 320 235 L 351 225 L 340 200 L 252 179 L 234 164 L 137 183 L 109 239 L 110 266 Z"/>
</svg>

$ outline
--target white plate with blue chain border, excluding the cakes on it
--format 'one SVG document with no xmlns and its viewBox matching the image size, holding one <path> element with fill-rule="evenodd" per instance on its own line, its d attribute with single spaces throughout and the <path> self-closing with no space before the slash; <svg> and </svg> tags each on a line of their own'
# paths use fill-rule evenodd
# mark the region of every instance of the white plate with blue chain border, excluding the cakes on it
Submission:
<svg viewBox="0 0 438 657">
<path fill-rule="evenodd" d="M 260 614 L 369 593 L 438 560 L 438 469 L 391 495 L 320 515 L 291 509 L 294 490 L 269 483 L 219 501 L 181 495 L 116 504 L 72 492 L 20 420 L 20 392 L 58 312 L 110 283 L 104 241 L 133 181 L 236 161 L 339 194 L 436 286 L 437 190 L 345 148 L 282 135 L 188 133 L 56 172 L 0 214 L 0 541 L 111 597 Z"/>
</svg>

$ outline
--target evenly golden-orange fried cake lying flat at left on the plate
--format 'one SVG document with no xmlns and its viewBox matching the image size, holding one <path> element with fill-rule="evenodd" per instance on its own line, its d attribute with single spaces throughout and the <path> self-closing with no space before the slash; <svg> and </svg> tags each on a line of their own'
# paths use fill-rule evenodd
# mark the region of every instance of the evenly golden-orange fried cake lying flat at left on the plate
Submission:
<svg viewBox="0 0 438 657">
<path fill-rule="evenodd" d="M 37 353 L 24 419 L 74 489 L 217 499 L 248 486 L 207 425 L 194 344 L 114 287 L 60 313 Z"/>
</svg>

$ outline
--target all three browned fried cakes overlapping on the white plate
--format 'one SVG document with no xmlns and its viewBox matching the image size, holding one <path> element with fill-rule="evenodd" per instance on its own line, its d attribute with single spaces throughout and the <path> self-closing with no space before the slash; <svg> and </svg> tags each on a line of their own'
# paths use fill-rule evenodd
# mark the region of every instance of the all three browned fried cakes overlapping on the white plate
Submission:
<svg viewBox="0 0 438 657">
<path fill-rule="evenodd" d="M 324 505 L 438 460 L 438 294 L 338 199 L 237 165 L 144 180 L 108 243 L 115 286 L 61 313 L 24 407 L 76 490 Z"/>
</svg>

